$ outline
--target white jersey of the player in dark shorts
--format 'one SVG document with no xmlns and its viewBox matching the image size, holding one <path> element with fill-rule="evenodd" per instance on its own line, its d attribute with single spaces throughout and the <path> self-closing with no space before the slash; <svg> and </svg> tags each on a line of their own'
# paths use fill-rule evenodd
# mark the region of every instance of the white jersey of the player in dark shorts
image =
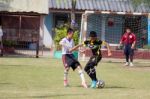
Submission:
<svg viewBox="0 0 150 99">
<path fill-rule="evenodd" d="M 72 54 L 69 50 L 74 47 L 73 39 L 68 40 L 67 38 L 63 38 L 59 44 L 62 45 L 62 54 Z"/>
</svg>

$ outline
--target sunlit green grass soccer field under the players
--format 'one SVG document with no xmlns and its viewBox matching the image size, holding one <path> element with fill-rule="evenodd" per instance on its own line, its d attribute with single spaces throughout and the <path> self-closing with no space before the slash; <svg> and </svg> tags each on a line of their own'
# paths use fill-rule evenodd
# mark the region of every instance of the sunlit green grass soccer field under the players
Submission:
<svg viewBox="0 0 150 99">
<path fill-rule="evenodd" d="M 136 65 L 101 62 L 97 76 L 105 81 L 103 89 L 82 88 L 71 70 L 71 86 L 64 88 L 59 59 L 0 58 L 0 99 L 150 99 L 150 65 Z M 86 80 L 90 84 L 87 75 Z"/>
</svg>

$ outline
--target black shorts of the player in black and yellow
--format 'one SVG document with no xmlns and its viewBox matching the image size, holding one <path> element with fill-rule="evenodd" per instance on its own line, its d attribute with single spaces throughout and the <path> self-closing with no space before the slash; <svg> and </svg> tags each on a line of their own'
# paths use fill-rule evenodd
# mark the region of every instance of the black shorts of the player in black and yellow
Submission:
<svg viewBox="0 0 150 99">
<path fill-rule="evenodd" d="M 102 57 L 99 55 L 94 55 L 90 58 L 88 63 L 86 64 L 86 67 L 94 67 L 97 66 L 97 64 L 101 61 Z"/>
</svg>

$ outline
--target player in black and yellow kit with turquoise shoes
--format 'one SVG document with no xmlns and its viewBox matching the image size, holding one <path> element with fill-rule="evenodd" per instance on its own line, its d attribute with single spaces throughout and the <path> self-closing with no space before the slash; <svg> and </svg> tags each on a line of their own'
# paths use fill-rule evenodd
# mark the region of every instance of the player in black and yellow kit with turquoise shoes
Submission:
<svg viewBox="0 0 150 99">
<path fill-rule="evenodd" d="M 95 31 L 91 31 L 89 37 L 90 39 L 84 41 L 83 45 L 90 48 L 90 50 L 92 51 L 92 56 L 90 57 L 90 60 L 87 62 L 84 70 L 92 80 L 91 88 L 96 88 L 98 79 L 96 77 L 95 66 L 97 66 L 100 60 L 102 59 L 101 46 L 103 44 L 107 46 L 108 56 L 111 56 L 112 53 L 109 44 L 105 41 L 98 40 L 97 33 Z"/>
</svg>

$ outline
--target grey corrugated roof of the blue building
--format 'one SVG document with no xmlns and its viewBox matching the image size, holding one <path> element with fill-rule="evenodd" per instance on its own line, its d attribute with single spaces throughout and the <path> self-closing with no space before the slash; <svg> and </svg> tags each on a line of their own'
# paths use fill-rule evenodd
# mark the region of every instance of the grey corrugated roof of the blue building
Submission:
<svg viewBox="0 0 150 99">
<path fill-rule="evenodd" d="M 70 10 L 72 0 L 49 0 L 50 9 Z M 134 9 L 131 0 L 76 0 L 76 10 L 97 10 L 112 12 L 140 12 L 147 13 L 150 9 L 144 4 Z"/>
</svg>

